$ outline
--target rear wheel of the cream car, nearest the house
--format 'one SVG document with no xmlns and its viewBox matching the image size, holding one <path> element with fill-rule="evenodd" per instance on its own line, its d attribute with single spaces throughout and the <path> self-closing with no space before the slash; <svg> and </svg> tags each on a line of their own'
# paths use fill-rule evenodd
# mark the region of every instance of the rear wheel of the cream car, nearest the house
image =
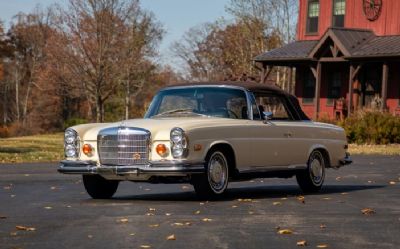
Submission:
<svg viewBox="0 0 400 249">
<path fill-rule="evenodd" d="M 324 155 L 314 150 L 307 162 L 307 169 L 296 174 L 297 183 L 305 193 L 316 193 L 322 188 L 325 180 Z"/>
</svg>

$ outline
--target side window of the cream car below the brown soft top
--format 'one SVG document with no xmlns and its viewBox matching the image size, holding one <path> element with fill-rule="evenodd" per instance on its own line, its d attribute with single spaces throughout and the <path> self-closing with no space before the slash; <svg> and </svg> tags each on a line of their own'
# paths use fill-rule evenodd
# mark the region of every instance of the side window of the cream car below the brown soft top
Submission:
<svg viewBox="0 0 400 249">
<path fill-rule="evenodd" d="M 271 94 L 256 94 L 256 102 L 261 113 L 272 113 L 272 120 L 293 120 L 283 97 Z"/>
</svg>

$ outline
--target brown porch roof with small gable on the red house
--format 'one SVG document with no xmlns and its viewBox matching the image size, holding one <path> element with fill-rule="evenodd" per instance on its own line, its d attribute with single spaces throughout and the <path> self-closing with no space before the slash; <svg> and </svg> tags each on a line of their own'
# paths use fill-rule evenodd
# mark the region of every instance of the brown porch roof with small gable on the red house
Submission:
<svg viewBox="0 0 400 249">
<path fill-rule="evenodd" d="M 371 30 L 329 28 L 318 41 L 296 41 L 255 57 L 256 62 L 304 61 L 318 58 L 332 42 L 348 60 L 368 57 L 400 57 L 400 35 L 376 36 Z"/>
</svg>

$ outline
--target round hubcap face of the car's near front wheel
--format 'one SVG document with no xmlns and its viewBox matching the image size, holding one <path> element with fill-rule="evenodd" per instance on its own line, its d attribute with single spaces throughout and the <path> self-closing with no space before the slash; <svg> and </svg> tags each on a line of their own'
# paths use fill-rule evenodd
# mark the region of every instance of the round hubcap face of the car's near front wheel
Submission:
<svg viewBox="0 0 400 249">
<path fill-rule="evenodd" d="M 228 165 L 225 156 L 215 152 L 208 163 L 208 181 L 215 193 L 222 193 L 227 184 Z"/>
</svg>

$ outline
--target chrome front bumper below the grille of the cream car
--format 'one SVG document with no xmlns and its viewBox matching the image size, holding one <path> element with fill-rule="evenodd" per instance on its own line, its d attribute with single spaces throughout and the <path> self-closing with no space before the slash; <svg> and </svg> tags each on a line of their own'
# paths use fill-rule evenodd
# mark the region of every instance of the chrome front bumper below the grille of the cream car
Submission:
<svg viewBox="0 0 400 249">
<path fill-rule="evenodd" d="M 146 165 L 104 166 L 94 161 L 61 161 L 58 172 L 81 175 L 185 176 L 204 173 L 204 162 L 164 161 Z"/>
</svg>

